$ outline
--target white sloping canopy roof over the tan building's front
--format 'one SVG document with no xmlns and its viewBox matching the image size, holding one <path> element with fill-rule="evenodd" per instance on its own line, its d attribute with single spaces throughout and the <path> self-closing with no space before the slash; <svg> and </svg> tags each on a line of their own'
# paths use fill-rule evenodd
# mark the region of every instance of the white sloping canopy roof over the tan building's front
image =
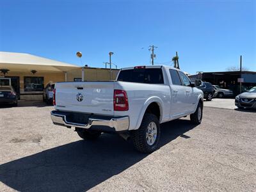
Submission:
<svg viewBox="0 0 256 192">
<path fill-rule="evenodd" d="M 67 72 L 81 67 L 26 53 L 0 52 L 0 68 L 7 68 L 13 72 L 28 70 Z"/>
</svg>

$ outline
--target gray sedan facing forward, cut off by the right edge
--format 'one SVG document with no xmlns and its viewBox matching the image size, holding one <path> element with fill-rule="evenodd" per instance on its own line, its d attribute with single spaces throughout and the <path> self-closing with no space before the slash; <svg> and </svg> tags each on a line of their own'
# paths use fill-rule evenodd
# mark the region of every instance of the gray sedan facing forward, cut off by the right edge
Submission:
<svg viewBox="0 0 256 192">
<path fill-rule="evenodd" d="M 248 92 L 241 93 L 236 96 L 235 105 L 239 109 L 254 108 L 256 109 L 256 86 Z"/>
</svg>

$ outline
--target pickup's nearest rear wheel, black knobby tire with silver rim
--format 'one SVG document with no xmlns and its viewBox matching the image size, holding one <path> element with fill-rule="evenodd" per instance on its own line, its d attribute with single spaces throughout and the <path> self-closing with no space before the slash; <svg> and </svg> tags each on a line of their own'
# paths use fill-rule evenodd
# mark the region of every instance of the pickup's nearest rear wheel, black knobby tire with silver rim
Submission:
<svg viewBox="0 0 256 192">
<path fill-rule="evenodd" d="M 156 115 L 146 113 L 138 130 L 132 131 L 132 141 L 136 150 L 150 153 L 159 147 L 160 125 Z"/>
</svg>

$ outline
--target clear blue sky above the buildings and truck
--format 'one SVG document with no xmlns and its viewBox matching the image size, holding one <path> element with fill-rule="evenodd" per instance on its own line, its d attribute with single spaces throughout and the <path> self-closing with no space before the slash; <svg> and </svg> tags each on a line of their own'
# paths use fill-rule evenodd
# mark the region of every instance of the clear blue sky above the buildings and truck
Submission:
<svg viewBox="0 0 256 192">
<path fill-rule="evenodd" d="M 182 70 L 256 71 L 256 1 L 0 1 L 0 51 L 104 67 L 113 51 L 118 67 L 156 63 Z"/>
</svg>

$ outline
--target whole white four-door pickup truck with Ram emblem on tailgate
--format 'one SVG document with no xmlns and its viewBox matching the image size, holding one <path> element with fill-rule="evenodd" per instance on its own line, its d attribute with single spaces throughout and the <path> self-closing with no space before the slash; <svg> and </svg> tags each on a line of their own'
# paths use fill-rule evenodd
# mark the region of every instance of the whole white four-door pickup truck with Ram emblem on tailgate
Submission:
<svg viewBox="0 0 256 192">
<path fill-rule="evenodd" d="M 116 81 L 56 83 L 51 118 L 56 125 L 75 127 L 84 140 L 117 132 L 148 153 L 159 147 L 159 124 L 187 115 L 200 124 L 203 100 L 203 92 L 176 68 L 129 67 Z"/>
</svg>

